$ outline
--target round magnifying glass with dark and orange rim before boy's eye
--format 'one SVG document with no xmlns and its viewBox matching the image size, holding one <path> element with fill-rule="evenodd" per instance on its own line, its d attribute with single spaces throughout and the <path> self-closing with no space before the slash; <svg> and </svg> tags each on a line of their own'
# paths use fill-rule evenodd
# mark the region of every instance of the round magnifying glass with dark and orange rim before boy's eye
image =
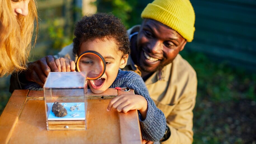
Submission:
<svg viewBox="0 0 256 144">
<path fill-rule="evenodd" d="M 88 80 L 95 80 L 105 73 L 106 62 L 98 52 L 85 51 L 78 57 L 76 69 L 78 72 L 87 72 Z"/>
</svg>

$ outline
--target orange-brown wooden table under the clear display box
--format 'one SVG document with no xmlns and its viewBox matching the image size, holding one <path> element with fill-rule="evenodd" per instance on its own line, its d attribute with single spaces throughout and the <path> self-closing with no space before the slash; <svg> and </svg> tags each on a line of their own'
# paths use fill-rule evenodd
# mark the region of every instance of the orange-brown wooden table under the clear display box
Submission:
<svg viewBox="0 0 256 144">
<path fill-rule="evenodd" d="M 106 110 L 122 93 L 134 91 L 88 91 L 94 98 L 88 99 L 86 130 L 47 131 L 43 91 L 15 90 L 0 117 L 0 143 L 142 143 L 137 110 Z"/>
</svg>

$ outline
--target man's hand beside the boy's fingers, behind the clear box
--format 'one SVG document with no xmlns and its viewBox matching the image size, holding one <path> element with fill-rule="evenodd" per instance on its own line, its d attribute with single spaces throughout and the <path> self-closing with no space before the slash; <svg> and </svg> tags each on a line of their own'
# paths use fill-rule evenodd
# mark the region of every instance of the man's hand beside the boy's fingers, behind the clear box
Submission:
<svg viewBox="0 0 256 144">
<path fill-rule="evenodd" d="M 59 72 L 55 58 L 52 55 L 30 63 L 25 71 L 25 75 L 28 81 L 36 82 L 43 87 L 49 72 Z"/>
</svg>

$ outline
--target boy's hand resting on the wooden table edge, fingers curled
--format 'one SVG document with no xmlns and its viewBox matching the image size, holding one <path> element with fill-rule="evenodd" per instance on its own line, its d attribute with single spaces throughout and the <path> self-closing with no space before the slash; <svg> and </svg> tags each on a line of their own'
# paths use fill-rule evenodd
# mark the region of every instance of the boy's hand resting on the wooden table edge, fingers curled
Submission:
<svg viewBox="0 0 256 144">
<path fill-rule="evenodd" d="M 143 119 L 147 115 L 147 100 L 141 95 L 121 94 L 109 102 L 107 111 L 110 111 L 112 107 L 124 113 L 129 110 L 139 110 Z"/>
</svg>

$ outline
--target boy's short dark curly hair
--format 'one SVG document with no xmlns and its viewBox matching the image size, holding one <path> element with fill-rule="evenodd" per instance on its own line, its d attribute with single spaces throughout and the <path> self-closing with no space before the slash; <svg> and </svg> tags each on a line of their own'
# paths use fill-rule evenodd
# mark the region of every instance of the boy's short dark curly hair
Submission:
<svg viewBox="0 0 256 144">
<path fill-rule="evenodd" d="M 126 28 L 114 15 L 97 13 L 84 16 L 77 22 L 74 35 L 74 55 L 79 54 L 79 48 L 83 42 L 96 38 L 113 38 L 123 55 L 130 54 L 130 41 Z"/>
</svg>

